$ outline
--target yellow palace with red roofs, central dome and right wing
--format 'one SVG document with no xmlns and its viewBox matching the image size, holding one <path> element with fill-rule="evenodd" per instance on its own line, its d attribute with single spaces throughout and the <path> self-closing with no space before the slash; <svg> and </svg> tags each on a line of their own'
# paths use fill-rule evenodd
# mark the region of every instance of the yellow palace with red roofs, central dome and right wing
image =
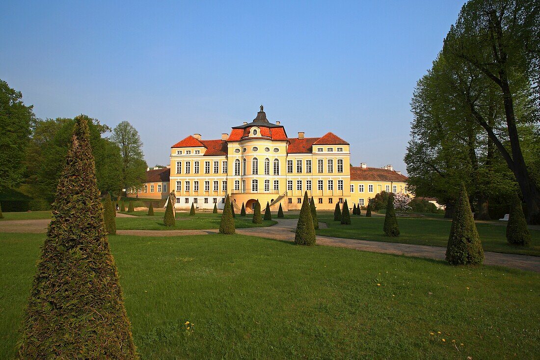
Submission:
<svg viewBox="0 0 540 360">
<path fill-rule="evenodd" d="M 305 137 L 299 132 L 288 137 L 279 121 L 268 121 L 261 105 L 252 122 L 234 126 L 221 139 L 194 134 L 171 146 L 169 188 L 177 209 L 192 203 L 222 209 L 228 194 L 238 211 L 242 203 L 253 209 L 257 200 L 263 209 L 269 202 L 272 210 L 280 203 L 285 211 L 298 210 L 306 190 L 320 210 L 333 210 L 345 199 L 351 208 L 353 203 L 364 206 L 383 190 L 407 191 L 407 177 L 392 165 L 354 167 L 349 159 L 349 143 L 339 136 Z M 161 190 L 165 192 L 163 185 Z"/>
</svg>

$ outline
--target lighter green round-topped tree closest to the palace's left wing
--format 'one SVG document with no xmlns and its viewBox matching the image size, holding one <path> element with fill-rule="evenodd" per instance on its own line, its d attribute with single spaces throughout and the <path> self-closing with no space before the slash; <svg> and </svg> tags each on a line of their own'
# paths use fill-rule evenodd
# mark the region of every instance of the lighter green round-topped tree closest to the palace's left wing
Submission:
<svg viewBox="0 0 540 360">
<path fill-rule="evenodd" d="M 118 145 L 122 155 L 122 186 L 124 189 L 140 188 L 146 181 L 147 164 L 139 132 L 129 122 L 123 121 L 112 131 L 111 141 Z"/>
</svg>

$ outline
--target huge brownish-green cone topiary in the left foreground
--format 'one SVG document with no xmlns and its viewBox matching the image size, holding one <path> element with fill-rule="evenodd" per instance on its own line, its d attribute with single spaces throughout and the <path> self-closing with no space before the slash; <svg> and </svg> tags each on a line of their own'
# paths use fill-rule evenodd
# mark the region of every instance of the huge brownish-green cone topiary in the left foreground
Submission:
<svg viewBox="0 0 540 360">
<path fill-rule="evenodd" d="M 17 359 L 138 359 L 105 231 L 88 124 L 76 119 Z"/>
</svg>

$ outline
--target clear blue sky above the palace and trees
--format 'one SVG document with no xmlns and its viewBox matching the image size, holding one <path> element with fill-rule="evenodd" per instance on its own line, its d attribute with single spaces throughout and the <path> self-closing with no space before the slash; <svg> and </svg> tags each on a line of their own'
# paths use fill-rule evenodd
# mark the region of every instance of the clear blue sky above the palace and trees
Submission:
<svg viewBox="0 0 540 360">
<path fill-rule="evenodd" d="M 0 78 L 40 118 L 131 122 L 149 165 L 220 138 L 260 104 L 289 137 L 405 170 L 410 98 L 461 1 L 0 4 Z"/>
</svg>

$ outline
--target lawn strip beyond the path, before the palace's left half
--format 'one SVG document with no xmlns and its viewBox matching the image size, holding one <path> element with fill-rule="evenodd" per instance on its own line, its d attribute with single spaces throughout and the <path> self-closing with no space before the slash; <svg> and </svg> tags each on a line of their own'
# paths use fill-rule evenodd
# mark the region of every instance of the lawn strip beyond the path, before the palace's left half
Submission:
<svg viewBox="0 0 540 360">
<path fill-rule="evenodd" d="M 219 229 L 221 214 L 197 214 L 194 216 L 177 216 L 175 226 L 165 226 L 163 216 L 157 217 L 117 217 L 117 230 L 197 230 L 197 229 Z M 259 226 L 271 226 L 275 221 L 263 220 L 262 224 L 252 223 L 252 217 L 237 216 L 234 219 L 237 229 L 257 228 Z"/>
</svg>

